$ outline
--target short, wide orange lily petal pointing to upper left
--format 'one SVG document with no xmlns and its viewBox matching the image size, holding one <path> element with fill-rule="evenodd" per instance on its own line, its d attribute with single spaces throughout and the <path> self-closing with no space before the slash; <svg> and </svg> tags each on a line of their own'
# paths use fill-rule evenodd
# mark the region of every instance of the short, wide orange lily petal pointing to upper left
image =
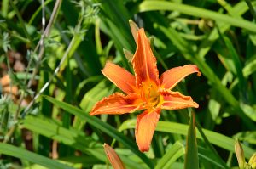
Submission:
<svg viewBox="0 0 256 169">
<path fill-rule="evenodd" d="M 125 93 L 135 92 L 135 77 L 119 65 L 108 62 L 102 70 L 102 73 Z"/>
</svg>

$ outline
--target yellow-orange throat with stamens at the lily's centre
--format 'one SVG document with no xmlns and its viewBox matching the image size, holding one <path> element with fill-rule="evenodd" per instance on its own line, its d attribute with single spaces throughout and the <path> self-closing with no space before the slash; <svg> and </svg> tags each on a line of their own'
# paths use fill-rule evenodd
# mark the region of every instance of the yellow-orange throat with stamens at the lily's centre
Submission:
<svg viewBox="0 0 256 169">
<path fill-rule="evenodd" d="M 140 94 L 143 101 L 147 104 L 145 106 L 154 107 L 160 102 L 158 86 L 154 82 L 142 82 L 140 85 Z"/>
</svg>

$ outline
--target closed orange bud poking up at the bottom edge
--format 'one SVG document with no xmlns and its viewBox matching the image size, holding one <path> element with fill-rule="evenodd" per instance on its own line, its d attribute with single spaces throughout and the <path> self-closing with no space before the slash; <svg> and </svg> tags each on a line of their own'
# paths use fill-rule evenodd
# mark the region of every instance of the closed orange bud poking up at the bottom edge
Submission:
<svg viewBox="0 0 256 169">
<path fill-rule="evenodd" d="M 108 157 L 108 161 L 110 161 L 111 165 L 114 169 L 125 169 L 123 161 L 119 158 L 119 155 L 116 154 L 114 149 L 110 147 L 108 144 L 104 144 L 104 151 Z"/>
</svg>

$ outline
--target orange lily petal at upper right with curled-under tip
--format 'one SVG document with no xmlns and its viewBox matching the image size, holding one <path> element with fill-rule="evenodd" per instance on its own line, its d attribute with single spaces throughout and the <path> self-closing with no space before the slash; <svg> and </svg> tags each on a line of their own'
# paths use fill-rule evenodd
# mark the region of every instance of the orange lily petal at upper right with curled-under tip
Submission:
<svg viewBox="0 0 256 169">
<path fill-rule="evenodd" d="M 172 68 L 160 76 L 160 85 L 161 87 L 172 90 L 172 88 L 175 87 L 178 82 L 182 81 L 183 78 L 196 72 L 198 76 L 201 76 L 201 72 L 196 65 L 184 65 Z"/>
</svg>

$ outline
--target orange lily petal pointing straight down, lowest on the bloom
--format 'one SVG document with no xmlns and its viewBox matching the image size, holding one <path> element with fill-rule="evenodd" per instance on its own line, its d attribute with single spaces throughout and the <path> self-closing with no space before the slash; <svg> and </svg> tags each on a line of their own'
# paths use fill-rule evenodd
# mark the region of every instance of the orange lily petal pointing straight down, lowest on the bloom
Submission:
<svg viewBox="0 0 256 169">
<path fill-rule="evenodd" d="M 148 151 L 159 117 L 160 109 L 145 110 L 137 116 L 135 136 L 140 151 Z"/>
</svg>

